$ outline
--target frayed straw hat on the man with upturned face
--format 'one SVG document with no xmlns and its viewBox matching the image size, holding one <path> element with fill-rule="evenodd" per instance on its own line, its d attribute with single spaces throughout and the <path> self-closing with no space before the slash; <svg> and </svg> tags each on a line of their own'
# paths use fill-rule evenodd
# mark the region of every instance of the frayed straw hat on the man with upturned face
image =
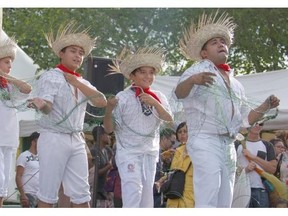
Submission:
<svg viewBox="0 0 288 216">
<path fill-rule="evenodd" d="M 225 12 L 219 18 L 217 16 L 218 11 L 210 16 L 203 13 L 199 17 L 198 25 L 192 23 L 190 28 L 184 31 L 179 44 L 180 50 L 186 58 L 194 61 L 201 60 L 200 52 L 204 44 L 215 37 L 224 38 L 227 46 L 230 47 L 236 24 L 233 23 L 232 17 L 228 17 Z"/>
</svg>

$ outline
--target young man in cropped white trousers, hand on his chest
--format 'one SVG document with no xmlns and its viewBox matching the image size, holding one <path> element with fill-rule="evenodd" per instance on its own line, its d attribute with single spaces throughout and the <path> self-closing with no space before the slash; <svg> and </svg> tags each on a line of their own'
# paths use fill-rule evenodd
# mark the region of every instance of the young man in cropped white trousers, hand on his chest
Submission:
<svg viewBox="0 0 288 216">
<path fill-rule="evenodd" d="M 39 120 L 40 161 L 38 207 L 52 207 L 58 201 L 63 184 L 64 194 L 72 207 L 89 207 L 88 160 L 82 135 L 87 102 L 106 106 L 105 96 L 76 70 L 95 45 L 87 31 L 78 32 L 76 23 L 60 28 L 56 38 L 46 36 L 60 58 L 60 65 L 43 73 L 38 81 L 38 97 L 29 107 L 44 115 Z"/>
</svg>

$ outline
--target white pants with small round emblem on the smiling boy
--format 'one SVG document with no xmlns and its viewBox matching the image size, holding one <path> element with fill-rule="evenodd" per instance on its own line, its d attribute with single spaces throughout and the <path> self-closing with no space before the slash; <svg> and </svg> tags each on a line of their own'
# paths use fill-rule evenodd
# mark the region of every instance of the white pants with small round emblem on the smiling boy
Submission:
<svg viewBox="0 0 288 216">
<path fill-rule="evenodd" d="M 156 162 L 155 156 L 141 155 L 117 164 L 123 208 L 153 208 Z"/>
</svg>

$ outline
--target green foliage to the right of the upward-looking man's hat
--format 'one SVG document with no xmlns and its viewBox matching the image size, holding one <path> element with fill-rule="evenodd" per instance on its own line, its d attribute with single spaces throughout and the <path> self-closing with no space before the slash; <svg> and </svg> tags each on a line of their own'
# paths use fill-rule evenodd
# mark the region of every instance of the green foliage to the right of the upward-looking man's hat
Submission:
<svg viewBox="0 0 288 216">
<path fill-rule="evenodd" d="M 234 9 L 235 31 L 230 61 L 239 72 L 287 68 L 288 9 Z M 285 61 L 286 60 L 286 61 Z"/>
</svg>

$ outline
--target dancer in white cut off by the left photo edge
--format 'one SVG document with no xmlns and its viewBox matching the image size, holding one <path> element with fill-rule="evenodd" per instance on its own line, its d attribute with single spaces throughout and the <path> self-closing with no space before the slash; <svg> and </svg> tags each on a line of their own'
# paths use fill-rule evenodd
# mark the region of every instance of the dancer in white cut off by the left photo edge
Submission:
<svg viewBox="0 0 288 216">
<path fill-rule="evenodd" d="M 25 104 L 31 86 L 9 75 L 15 59 L 17 45 L 13 38 L 0 42 L 0 207 L 8 194 L 12 155 L 19 145 L 17 107 Z"/>
</svg>

